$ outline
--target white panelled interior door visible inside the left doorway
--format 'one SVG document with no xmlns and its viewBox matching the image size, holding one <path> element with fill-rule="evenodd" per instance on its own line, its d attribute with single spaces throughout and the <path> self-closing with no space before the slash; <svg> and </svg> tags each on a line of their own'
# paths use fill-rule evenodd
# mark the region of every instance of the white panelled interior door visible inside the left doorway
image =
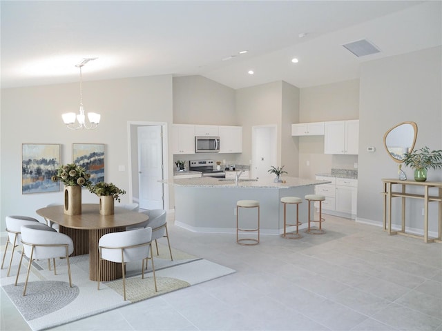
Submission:
<svg viewBox="0 0 442 331">
<path fill-rule="evenodd" d="M 140 126 L 138 134 L 138 187 L 140 208 L 164 209 L 162 126 Z"/>
</svg>

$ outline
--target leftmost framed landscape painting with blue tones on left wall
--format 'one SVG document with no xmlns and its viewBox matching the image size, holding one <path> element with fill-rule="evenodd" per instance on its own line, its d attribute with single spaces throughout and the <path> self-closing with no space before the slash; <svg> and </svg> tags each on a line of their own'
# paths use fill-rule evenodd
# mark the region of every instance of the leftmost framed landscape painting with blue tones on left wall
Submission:
<svg viewBox="0 0 442 331">
<path fill-rule="evenodd" d="M 57 192 L 60 183 L 51 181 L 60 165 L 60 145 L 21 144 L 21 194 Z"/>
</svg>

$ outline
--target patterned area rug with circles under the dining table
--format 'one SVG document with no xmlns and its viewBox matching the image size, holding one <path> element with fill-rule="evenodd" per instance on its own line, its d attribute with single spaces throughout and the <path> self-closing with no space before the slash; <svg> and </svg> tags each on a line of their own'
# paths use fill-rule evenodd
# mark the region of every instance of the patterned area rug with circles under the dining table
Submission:
<svg viewBox="0 0 442 331">
<path fill-rule="evenodd" d="M 2 252 L 3 250 L 4 248 Z M 10 276 L 6 277 L 7 268 L 1 270 L 1 287 L 30 328 L 44 330 L 235 272 L 175 249 L 172 250 L 171 261 L 167 246 L 159 245 L 159 250 L 160 255 L 156 256 L 153 248 L 158 291 L 155 292 L 150 261 L 148 270 L 144 272 L 144 279 L 141 278 L 141 262 L 128 263 L 126 301 L 123 298 L 122 279 L 102 282 L 100 290 L 97 290 L 97 282 L 90 281 L 88 277 L 88 255 L 70 258 L 73 288 L 69 287 L 66 259 L 56 260 L 56 276 L 53 270 L 48 270 L 47 260 L 34 262 L 35 268 L 31 268 L 26 296 L 23 297 L 28 260 L 23 261 L 19 282 L 15 286 L 21 254 L 19 250 L 12 261 Z M 7 253 L 5 264 L 9 258 L 10 252 Z"/>
</svg>

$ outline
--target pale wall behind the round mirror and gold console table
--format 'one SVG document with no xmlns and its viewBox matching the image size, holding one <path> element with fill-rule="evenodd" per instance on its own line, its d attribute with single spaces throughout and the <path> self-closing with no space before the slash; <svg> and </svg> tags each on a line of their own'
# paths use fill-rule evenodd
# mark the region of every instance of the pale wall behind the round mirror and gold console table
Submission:
<svg viewBox="0 0 442 331">
<path fill-rule="evenodd" d="M 414 121 L 418 126 L 415 148 L 442 149 L 441 59 L 441 47 L 436 47 L 362 64 L 358 219 L 382 221 L 381 179 L 398 178 L 398 165 L 383 146 L 387 130 Z M 368 146 L 376 152 L 367 152 Z M 403 170 L 412 180 L 413 171 Z M 429 170 L 427 180 L 442 181 L 442 170 Z M 407 199 L 407 225 L 423 229 L 422 207 L 422 201 Z M 436 231 L 436 218 L 436 205 L 430 203 L 430 231 Z"/>
</svg>

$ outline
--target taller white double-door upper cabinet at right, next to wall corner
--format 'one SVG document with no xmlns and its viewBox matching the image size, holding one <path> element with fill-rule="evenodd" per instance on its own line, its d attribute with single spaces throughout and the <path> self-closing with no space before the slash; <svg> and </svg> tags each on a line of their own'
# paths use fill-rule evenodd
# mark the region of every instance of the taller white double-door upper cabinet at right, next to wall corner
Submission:
<svg viewBox="0 0 442 331">
<path fill-rule="evenodd" d="M 359 120 L 325 122 L 325 154 L 358 154 Z"/>
</svg>

